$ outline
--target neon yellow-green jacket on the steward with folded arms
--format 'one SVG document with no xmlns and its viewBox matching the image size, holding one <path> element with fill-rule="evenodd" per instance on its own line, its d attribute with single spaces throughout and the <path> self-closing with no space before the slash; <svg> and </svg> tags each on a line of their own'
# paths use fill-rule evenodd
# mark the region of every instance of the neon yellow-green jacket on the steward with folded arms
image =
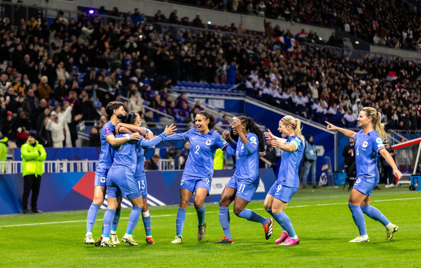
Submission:
<svg viewBox="0 0 421 268">
<path fill-rule="evenodd" d="M 44 146 L 35 141 L 36 145 L 32 146 L 27 141 L 21 147 L 21 158 L 22 158 L 22 176 L 26 175 L 43 175 L 44 163 L 43 161 L 47 158 Z"/>
</svg>

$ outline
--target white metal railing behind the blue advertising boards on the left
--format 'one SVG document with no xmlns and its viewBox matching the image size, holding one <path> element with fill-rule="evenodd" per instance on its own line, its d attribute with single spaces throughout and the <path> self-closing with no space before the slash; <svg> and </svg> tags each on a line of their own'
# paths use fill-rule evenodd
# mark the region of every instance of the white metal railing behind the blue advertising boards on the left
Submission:
<svg viewBox="0 0 421 268">
<path fill-rule="evenodd" d="M 55 160 L 44 161 L 45 173 L 90 172 L 95 171 L 97 160 Z M 22 173 L 22 161 L 0 161 L 0 174 Z M 158 170 L 174 170 L 174 159 L 160 159 Z"/>
</svg>

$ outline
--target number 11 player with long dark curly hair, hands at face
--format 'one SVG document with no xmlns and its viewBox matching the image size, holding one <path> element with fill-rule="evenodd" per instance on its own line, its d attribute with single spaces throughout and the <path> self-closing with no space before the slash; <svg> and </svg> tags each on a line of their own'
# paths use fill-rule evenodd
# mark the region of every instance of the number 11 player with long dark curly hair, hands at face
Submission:
<svg viewBox="0 0 421 268">
<path fill-rule="evenodd" d="M 234 200 L 234 213 L 263 225 L 266 240 L 272 235 L 273 220 L 264 218 L 252 210 L 245 209 L 259 186 L 259 151 L 265 151 L 263 133 L 250 117 L 240 116 L 232 122 L 234 135 L 239 135 L 238 144 L 232 140 L 229 133 L 222 133 L 229 146 L 226 151 L 235 156 L 236 165 L 234 175 L 226 184 L 219 200 L 219 221 L 224 230 L 224 237 L 215 244 L 232 244 L 234 240 L 229 228 L 228 206 Z"/>
</svg>

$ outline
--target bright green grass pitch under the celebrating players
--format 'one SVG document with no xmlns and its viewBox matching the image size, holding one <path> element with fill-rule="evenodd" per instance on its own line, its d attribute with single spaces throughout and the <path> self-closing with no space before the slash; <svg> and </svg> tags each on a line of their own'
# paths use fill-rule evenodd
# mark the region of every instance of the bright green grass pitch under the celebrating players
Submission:
<svg viewBox="0 0 421 268">
<path fill-rule="evenodd" d="M 223 236 L 218 204 L 213 203 L 205 204 L 208 227 L 203 241 L 197 241 L 196 211 L 189 207 L 182 244 L 170 243 L 175 235 L 177 207 L 149 207 L 156 244 L 145 243 L 139 220 L 133 232 L 140 242 L 136 247 L 83 244 L 86 210 L 0 215 L 0 267 L 421 267 L 421 192 L 406 187 L 373 191 L 371 205 L 400 230 L 386 241 L 381 223 L 365 216 L 368 243 L 348 242 L 358 235 L 346 205 L 348 196 L 342 187 L 299 190 L 285 210 L 301 241 L 290 247 L 274 244 L 281 232 L 277 223 L 272 238 L 266 241 L 261 224 L 237 218 L 232 206 L 234 244 L 213 244 Z M 253 201 L 247 208 L 268 216 L 263 201 Z M 104 211 L 98 213 L 94 239 L 100 234 Z M 120 239 L 130 211 L 121 212 L 117 229 Z M 11 226 L 51 222 L 55 223 Z"/>
</svg>

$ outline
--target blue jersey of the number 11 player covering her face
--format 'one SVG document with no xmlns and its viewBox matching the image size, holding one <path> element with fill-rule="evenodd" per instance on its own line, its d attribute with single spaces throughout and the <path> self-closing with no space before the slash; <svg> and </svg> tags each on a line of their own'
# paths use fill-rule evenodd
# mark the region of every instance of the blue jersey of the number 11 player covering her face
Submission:
<svg viewBox="0 0 421 268">
<path fill-rule="evenodd" d="M 245 136 L 248 143 L 242 143 L 242 139 L 238 139 L 238 143 L 233 143 L 227 147 L 226 151 L 235 156 L 235 172 L 234 177 L 240 180 L 251 180 L 251 183 L 259 182 L 259 141 L 257 135 L 248 133 Z M 235 148 L 234 149 L 232 148 Z M 248 147 L 248 148 L 246 148 Z"/>
</svg>

